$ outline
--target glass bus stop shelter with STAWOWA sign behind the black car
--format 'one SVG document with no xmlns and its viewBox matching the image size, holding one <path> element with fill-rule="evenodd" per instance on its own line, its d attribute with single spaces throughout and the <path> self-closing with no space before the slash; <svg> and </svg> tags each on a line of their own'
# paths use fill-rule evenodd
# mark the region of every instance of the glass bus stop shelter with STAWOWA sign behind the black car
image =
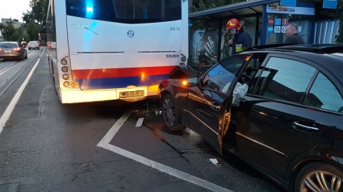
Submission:
<svg viewBox="0 0 343 192">
<path fill-rule="evenodd" d="M 253 46 L 280 44 L 288 24 L 298 25 L 305 43 L 314 42 L 315 6 L 322 0 L 281 6 L 279 0 L 252 0 L 189 14 L 189 65 L 212 65 L 230 55 L 227 21 L 237 18 Z"/>
</svg>

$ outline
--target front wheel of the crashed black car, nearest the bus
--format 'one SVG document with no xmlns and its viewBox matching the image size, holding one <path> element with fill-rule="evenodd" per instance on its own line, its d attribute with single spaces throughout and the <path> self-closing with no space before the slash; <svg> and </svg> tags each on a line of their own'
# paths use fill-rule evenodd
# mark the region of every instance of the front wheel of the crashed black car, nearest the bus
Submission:
<svg viewBox="0 0 343 192">
<path fill-rule="evenodd" d="M 177 105 L 172 95 L 164 95 L 161 108 L 164 123 L 169 130 L 179 131 L 184 129 L 184 126 L 181 124 L 179 110 L 177 110 Z"/>
</svg>

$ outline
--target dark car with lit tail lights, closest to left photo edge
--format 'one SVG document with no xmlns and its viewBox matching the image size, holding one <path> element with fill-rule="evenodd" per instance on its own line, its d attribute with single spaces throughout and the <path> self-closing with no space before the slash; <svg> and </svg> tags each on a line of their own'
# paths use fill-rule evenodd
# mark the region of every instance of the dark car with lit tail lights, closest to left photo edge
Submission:
<svg viewBox="0 0 343 192">
<path fill-rule="evenodd" d="M 14 41 L 0 42 L 0 59 L 19 59 L 27 58 L 26 49 L 21 43 Z"/>
</svg>

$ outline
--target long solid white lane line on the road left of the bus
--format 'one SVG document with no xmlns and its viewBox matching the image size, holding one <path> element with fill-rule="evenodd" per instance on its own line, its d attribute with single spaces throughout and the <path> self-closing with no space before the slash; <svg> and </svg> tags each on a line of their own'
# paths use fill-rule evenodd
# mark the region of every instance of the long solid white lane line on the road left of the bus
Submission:
<svg viewBox="0 0 343 192">
<path fill-rule="evenodd" d="M 36 67 L 39 63 L 39 60 L 41 60 L 41 59 L 37 60 L 36 64 L 34 65 L 34 68 L 32 68 L 29 75 L 27 75 L 26 80 L 24 80 L 23 84 L 21 84 L 19 90 L 16 92 L 16 95 L 14 95 L 13 99 L 9 103 L 9 106 L 6 108 L 4 114 L 2 114 L 2 116 L 0 118 L 0 134 L 2 132 L 2 129 L 4 129 L 4 127 L 6 126 L 6 122 L 7 122 L 7 120 L 9 120 L 9 117 L 11 116 L 11 113 L 13 112 L 14 107 L 16 107 L 16 103 L 19 101 L 21 94 L 24 92 L 24 88 L 26 87 L 26 85 L 29 82 L 32 74 L 34 73 L 34 70 L 36 69 Z"/>
</svg>

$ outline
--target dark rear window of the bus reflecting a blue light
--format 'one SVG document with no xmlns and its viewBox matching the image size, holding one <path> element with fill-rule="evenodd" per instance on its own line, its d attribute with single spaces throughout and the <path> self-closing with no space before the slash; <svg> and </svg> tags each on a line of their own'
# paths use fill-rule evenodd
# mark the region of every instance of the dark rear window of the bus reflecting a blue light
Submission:
<svg viewBox="0 0 343 192">
<path fill-rule="evenodd" d="M 118 23 L 181 19 L 181 0 L 66 0 L 66 14 Z"/>
</svg>

